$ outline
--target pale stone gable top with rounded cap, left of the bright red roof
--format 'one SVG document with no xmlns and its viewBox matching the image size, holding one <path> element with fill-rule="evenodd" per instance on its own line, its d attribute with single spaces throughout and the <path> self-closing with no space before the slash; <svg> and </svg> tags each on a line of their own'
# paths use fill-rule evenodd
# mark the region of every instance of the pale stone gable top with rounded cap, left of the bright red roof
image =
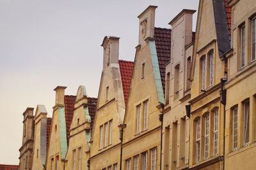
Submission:
<svg viewBox="0 0 256 170">
<path fill-rule="evenodd" d="M 118 63 L 119 56 L 119 37 L 116 36 L 105 36 L 102 47 L 103 47 L 103 68 L 108 67 L 113 63 Z"/>
</svg>

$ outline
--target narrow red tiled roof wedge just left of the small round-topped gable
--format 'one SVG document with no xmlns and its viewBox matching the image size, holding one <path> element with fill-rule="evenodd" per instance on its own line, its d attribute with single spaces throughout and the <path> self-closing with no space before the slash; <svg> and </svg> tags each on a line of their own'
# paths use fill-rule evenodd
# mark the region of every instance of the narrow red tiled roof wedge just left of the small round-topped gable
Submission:
<svg viewBox="0 0 256 170">
<path fill-rule="evenodd" d="M 72 122 L 72 118 L 74 115 L 74 104 L 76 102 L 76 96 L 65 95 L 64 104 L 65 104 L 65 119 L 66 119 L 66 132 L 67 132 L 67 143 L 69 140 L 69 128 Z"/>
</svg>

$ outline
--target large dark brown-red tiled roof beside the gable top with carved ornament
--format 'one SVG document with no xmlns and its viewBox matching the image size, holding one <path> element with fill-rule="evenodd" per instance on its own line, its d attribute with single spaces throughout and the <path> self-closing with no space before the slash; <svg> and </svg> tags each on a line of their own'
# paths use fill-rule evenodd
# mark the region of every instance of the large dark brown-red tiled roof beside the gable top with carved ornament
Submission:
<svg viewBox="0 0 256 170">
<path fill-rule="evenodd" d="M 154 38 L 163 92 L 165 92 L 165 65 L 170 61 L 172 29 L 155 27 Z"/>
</svg>

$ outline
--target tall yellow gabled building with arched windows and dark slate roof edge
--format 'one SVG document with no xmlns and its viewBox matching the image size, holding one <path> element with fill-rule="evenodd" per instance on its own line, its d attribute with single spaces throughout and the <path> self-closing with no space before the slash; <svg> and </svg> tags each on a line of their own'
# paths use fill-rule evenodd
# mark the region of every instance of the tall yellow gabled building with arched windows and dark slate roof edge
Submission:
<svg viewBox="0 0 256 170">
<path fill-rule="evenodd" d="M 223 169 L 223 79 L 230 50 L 227 1 L 200 1 L 191 64 L 190 169 Z M 220 95 L 221 94 L 221 95 Z M 222 103 L 222 104 L 221 104 Z"/>
</svg>

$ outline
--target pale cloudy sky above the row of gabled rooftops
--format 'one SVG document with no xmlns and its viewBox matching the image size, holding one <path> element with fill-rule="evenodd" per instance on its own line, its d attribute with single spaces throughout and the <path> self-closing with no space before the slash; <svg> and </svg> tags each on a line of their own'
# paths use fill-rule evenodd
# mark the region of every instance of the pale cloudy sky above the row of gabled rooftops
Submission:
<svg viewBox="0 0 256 170">
<path fill-rule="evenodd" d="M 76 95 L 79 85 L 97 97 L 104 36 L 120 37 L 119 59 L 134 61 L 139 20 L 156 5 L 156 27 L 199 0 L 1 0 L 0 1 L 0 164 L 19 164 L 23 116 L 45 105 L 52 116 L 56 86 Z M 195 31 L 197 12 L 193 15 Z"/>
</svg>

